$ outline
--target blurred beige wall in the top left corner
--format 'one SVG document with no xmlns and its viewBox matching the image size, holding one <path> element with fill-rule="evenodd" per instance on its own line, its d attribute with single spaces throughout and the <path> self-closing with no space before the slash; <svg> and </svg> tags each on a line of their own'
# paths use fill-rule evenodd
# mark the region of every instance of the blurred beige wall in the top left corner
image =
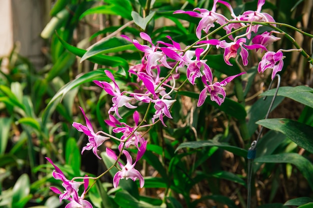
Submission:
<svg viewBox="0 0 313 208">
<path fill-rule="evenodd" d="M 42 66 L 45 0 L 0 0 L 0 56 L 7 55 L 17 43 L 19 53 L 35 66 Z"/>
</svg>

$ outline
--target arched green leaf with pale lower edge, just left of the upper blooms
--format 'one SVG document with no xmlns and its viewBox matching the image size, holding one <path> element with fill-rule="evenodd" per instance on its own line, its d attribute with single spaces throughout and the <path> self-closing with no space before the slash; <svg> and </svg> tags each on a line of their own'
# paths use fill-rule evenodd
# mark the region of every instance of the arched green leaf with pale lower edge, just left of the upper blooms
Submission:
<svg viewBox="0 0 313 208">
<path fill-rule="evenodd" d="M 112 52 L 119 52 L 123 50 L 135 50 L 136 48 L 129 41 L 125 40 L 121 37 L 112 37 L 104 41 L 97 42 L 90 46 L 86 53 L 80 59 L 80 62 L 84 61 L 91 56 L 96 54 L 104 54 L 104 53 L 112 53 Z"/>
</svg>

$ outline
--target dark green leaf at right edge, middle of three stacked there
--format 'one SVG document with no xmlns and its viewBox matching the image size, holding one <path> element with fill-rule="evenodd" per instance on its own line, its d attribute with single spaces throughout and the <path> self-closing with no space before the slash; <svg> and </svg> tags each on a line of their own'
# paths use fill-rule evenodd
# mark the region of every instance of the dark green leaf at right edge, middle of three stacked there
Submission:
<svg viewBox="0 0 313 208">
<path fill-rule="evenodd" d="M 263 119 L 256 124 L 281 132 L 298 146 L 313 153 L 313 127 L 290 119 Z"/>
</svg>

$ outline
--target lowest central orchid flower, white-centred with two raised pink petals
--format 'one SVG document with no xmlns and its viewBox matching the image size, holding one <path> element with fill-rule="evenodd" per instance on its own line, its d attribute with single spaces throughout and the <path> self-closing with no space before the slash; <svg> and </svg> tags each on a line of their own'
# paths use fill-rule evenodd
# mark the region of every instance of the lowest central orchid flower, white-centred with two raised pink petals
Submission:
<svg viewBox="0 0 313 208">
<path fill-rule="evenodd" d="M 139 148 L 140 150 L 137 153 L 136 161 L 133 164 L 132 164 L 132 159 L 131 159 L 130 154 L 126 150 L 122 151 L 122 153 L 126 157 L 126 165 L 123 165 L 118 161 L 118 164 L 121 168 L 121 171 L 118 171 L 113 177 L 113 187 L 114 188 L 116 188 L 118 186 L 120 179 L 126 179 L 126 180 L 131 179 L 132 181 L 139 179 L 139 186 L 140 186 L 140 188 L 143 187 L 143 185 L 144 185 L 143 177 L 141 176 L 139 171 L 134 169 L 134 166 L 136 165 L 136 162 L 143 156 L 145 149 L 146 149 L 146 144 L 147 144 L 147 141 L 145 141 L 140 146 L 140 148 Z M 108 157 L 117 161 L 117 156 L 111 149 L 106 148 L 106 154 Z"/>
</svg>

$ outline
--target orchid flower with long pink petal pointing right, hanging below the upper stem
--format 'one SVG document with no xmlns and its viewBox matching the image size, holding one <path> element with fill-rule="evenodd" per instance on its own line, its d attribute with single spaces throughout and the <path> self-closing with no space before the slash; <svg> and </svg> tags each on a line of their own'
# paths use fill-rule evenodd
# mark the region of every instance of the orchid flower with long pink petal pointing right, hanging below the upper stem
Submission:
<svg viewBox="0 0 313 208">
<path fill-rule="evenodd" d="M 236 78 L 237 76 L 240 76 L 241 74 L 244 74 L 246 72 L 241 72 L 239 74 L 229 76 L 226 79 L 224 79 L 221 82 L 215 82 L 212 84 L 212 77 L 211 74 L 205 74 L 205 76 L 202 77 L 202 82 L 204 83 L 204 89 L 199 94 L 199 100 L 197 103 L 197 107 L 203 105 L 207 95 L 206 92 L 210 93 L 210 99 L 211 101 L 216 102 L 218 105 L 221 105 L 226 97 L 225 90 L 222 88 L 225 86 L 228 82 Z M 208 83 L 209 84 L 208 84 Z M 221 97 L 220 97 L 221 96 Z"/>
</svg>

